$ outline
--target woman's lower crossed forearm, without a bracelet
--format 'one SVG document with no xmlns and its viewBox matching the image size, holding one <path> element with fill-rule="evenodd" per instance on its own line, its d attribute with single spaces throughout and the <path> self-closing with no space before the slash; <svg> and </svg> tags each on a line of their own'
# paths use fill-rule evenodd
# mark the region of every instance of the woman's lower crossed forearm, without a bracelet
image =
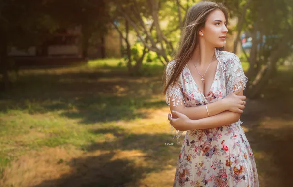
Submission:
<svg viewBox="0 0 293 187">
<path fill-rule="evenodd" d="M 207 128 L 217 128 L 220 126 L 229 125 L 237 122 L 240 119 L 241 114 L 224 111 L 215 116 L 199 119 L 199 120 L 190 120 L 187 125 L 187 130 L 196 130 L 196 129 L 207 129 Z"/>
</svg>

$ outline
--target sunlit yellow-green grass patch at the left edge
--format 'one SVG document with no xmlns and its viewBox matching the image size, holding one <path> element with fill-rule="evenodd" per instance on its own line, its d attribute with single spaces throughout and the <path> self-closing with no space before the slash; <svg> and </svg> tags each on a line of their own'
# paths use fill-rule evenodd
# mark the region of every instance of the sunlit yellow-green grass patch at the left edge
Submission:
<svg viewBox="0 0 293 187">
<path fill-rule="evenodd" d="M 89 133 L 77 121 L 60 117 L 57 113 L 30 115 L 24 112 L 5 116 L 0 125 L 0 167 L 24 150 L 63 144 L 79 147 L 100 136 Z"/>
</svg>

